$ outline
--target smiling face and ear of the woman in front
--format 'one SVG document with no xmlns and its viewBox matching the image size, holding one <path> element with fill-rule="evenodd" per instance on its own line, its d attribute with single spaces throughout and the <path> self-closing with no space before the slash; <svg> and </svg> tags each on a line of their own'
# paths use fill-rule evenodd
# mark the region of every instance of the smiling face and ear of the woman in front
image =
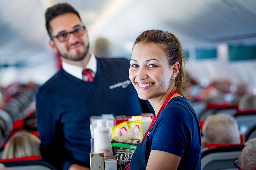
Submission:
<svg viewBox="0 0 256 170">
<path fill-rule="evenodd" d="M 163 93 L 173 88 L 171 87 L 173 82 L 171 77 L 177 75 L 179 63 L 172 67 L 169 66 L 167 57 L 159 45 L 153 43 L 135 44 L 130 63 L 130 79 L 141 99 L 159 98 L 160 100 Z M 175 68 L 175 72 L 173 68 Z"/>
</svg>

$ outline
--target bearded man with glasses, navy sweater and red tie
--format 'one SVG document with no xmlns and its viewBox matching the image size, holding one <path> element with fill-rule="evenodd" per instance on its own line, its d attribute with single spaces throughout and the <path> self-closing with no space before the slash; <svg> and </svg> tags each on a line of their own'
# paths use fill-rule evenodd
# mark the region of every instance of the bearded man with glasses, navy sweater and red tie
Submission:
<svg viewBox="0 0 256 170">
<path fill-rule="evenodd" d="M 45 18 L 49 44 L 63 68 L 36 95 L 42 157 L 57 169 L 88 170 L 90 116 L 132 116 L 152 108 L 139 100 L 128 77 L 128 60 L 90 52 L 87 29 L 72 6 L 54 5 Z"/>
</svg>

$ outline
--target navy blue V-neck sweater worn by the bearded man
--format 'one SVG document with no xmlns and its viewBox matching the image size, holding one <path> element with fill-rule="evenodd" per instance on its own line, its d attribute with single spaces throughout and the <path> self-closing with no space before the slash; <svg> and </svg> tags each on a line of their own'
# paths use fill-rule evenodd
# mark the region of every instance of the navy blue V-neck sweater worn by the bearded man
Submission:
<svg viewBox="0 0 256 170">
<path fill-rule="evenodd" d="M 93 82 L 73 77 L 61 69 L 36 95 L 36 116 L 42 157 L 57 169 L 72 164 L 89 167 L 90 116 L 139 115 L 153 112 L 138 98 L 129 80 L 129 61 L 97 58 Z"/>
</svg>

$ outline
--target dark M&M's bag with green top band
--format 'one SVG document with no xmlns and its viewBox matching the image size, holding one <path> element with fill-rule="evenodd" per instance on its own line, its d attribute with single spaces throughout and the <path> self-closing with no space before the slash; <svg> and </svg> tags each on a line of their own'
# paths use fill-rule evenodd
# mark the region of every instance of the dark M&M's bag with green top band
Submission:
<svg viewBox="0 0 256 170">
<path fill-rule="evenodd" d="M 138 145 L 125 142 L 111 142 L 111 146 L 116 157 L 117 169 L 121 170 L 131 160 Z"/>
</svg>

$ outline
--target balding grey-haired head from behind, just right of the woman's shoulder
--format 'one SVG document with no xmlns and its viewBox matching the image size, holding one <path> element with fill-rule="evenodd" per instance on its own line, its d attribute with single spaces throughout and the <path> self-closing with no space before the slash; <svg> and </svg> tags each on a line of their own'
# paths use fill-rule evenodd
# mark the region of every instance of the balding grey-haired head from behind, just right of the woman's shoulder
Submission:
<svg viewBox="0 0 256 170">
<path fill-rule="evenodd" d="M 203 146 L 208 144 L 239 144 L 240 133 L 236 120 L 230 115 L 210 115 L 203 124 Z"/>
</svg>

